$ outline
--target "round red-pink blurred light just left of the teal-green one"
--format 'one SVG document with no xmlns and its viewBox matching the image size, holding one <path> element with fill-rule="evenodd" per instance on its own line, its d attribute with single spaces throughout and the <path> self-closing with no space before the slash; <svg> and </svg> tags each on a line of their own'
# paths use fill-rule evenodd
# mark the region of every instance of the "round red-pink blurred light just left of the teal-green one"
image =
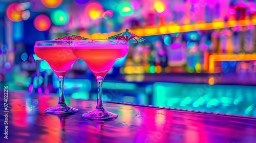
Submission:
<svg viewBox="0 0 256 143">
<path fill-rule="evenodd" d="M 34 19 L 34 27 L 39 31 L 47 31 L 51 25 L 51 19 L 47 15 L 41 14 Z"/>
</svg>

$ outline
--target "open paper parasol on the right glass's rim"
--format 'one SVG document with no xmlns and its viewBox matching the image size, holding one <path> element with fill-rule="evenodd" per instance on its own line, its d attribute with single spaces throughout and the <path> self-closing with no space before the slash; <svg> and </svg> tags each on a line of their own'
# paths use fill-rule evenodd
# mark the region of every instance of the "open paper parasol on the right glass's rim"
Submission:
<svg viewBox="0 0 256 143">
<path fill-rule="evenodd" d="M 129 32 L 129 29 L 126 29 L 123 33 L 111 36 L 108 39 L 125 40 L 128 43 L 140 43 L 146 41 L 145 39 Z"/>
</svg>

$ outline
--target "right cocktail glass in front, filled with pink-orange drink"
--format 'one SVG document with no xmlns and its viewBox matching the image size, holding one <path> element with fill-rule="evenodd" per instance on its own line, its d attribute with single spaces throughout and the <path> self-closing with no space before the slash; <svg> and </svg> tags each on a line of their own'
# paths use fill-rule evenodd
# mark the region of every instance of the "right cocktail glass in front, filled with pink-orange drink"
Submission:
<svg viewBox="0 0 256 143">
<path fill-rule="evenodd" d="M 106 111 L 103 107 L 102 84 L 115 61 L 128 53 L 128 43 L 125 40 L 82 40 L 74 41 L 73 45 L 74 55 L 87 63 L 95 75 L 98 85 L 96 108 L 82 114 L 82 117 L 91 120 L 116 118 L 117 114 Z"/>
</svg>

